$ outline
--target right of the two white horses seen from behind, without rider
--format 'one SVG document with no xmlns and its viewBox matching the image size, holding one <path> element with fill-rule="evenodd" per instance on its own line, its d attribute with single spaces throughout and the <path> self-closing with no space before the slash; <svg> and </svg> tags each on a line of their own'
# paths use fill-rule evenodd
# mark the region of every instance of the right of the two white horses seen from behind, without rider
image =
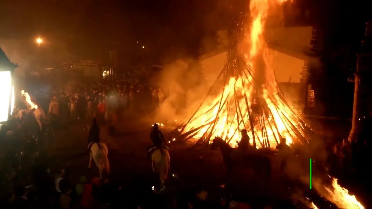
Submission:
<svg viewBox="0 0 372 209">
<path fill-rule="evenodd" d="M 155 149 L 151 155 L 153 160 L 153 171 L 159 174 L 160 183 L 163 184 L 168 178 L 170 156 L 167 149 Z"/>
</svg>

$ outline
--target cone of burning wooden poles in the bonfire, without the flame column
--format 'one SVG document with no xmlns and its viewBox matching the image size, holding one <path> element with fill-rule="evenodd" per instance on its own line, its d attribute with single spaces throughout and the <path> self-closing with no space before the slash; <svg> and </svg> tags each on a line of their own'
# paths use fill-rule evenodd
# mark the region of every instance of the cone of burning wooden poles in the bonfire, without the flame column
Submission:
<svg viewBox="0 0 372 209">
<path fill-rule="evenodd" d="M 311 130 L 303 128 L 304 122 L 289 107 L 278 87 L 268 86 L 269 81 L 266 85 L 255 85 L 258 81 L 254 72 L 236 54 L 234 49 L 228 51 L 227 64 L 203 102 L 181 126 L 181 136 L 185 140 L 198 138 L 197 144 L 206 145 L 212 135 L 218 135 L 234 147 L 240 141 L 240 134 L 236 133 L 247 129 L 253 147 L 257 147 L 257 141 L 259 148 L 276 147 L 282 137 L 287 138 L 288 144 L 307 143 Z M 223 88 L 216 97 L 211 92 L 220 88 L 217 81 L 221 78 Z M 257 102 L 253 103 L 253 99 Z"/>
</svg>

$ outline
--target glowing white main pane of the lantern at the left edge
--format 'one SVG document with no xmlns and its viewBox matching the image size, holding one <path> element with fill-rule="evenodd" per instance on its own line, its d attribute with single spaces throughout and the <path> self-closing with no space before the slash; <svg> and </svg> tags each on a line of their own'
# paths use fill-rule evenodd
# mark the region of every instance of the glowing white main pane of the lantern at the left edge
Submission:
<svg viewBox="0 0 372 209">
<path fill-rule="evenodd" d="M 11 82 L 10 71 L 0 71 L 0 122 L 8 120 Z"/>
</svg>

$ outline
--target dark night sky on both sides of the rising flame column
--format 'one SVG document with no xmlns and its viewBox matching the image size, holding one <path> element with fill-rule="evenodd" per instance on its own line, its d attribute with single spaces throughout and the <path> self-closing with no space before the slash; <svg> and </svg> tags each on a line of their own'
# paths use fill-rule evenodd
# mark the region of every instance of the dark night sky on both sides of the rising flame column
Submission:
<svg viewBox="0 0 372 209">
<path fill-rule="evenodd" d="M 145 52 L 155 60 L 170 54 L 195 56 L 202 38 L 227 29 L 244 4 L 248 1 L 0 0 L 0 39 L 32 40 L 40 35 L 81 58 L 100 58 L 110 49 L 126 57 Z M 309 24 L 323 29 L 332 46 L 359 44 L 368 13 L 362 1 L 294 4 L 310 9 Z"/>
</svg>

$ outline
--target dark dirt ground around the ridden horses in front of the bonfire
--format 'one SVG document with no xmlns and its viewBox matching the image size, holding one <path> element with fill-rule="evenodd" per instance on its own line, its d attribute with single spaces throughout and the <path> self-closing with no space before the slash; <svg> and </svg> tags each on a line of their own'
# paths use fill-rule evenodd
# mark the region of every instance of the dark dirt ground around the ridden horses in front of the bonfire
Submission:
<svg viewBox="0 0 372 209">
<path fill-rule="evenodd" d="M 109 148 L 110 181 L 135 188 L 139 205 L 145 201 L 141 198 L 145 193 L 151 192 L 151 186 L 156 181 L 151 170 L 151 161 L 146 153 L 146 147 L 151 144 L 150 130 L 151 123 L 126 121 L 117 127 L 116 136 L 111 137 L 108 135 L 108 128 L 101 127 L 101 138 Z M 71 171 L 76 181 L 80 175 L 85 174 L 89 163 L 86 149 L 87 134 L 84 122 L 77 122 L 55 131 L 54 145 L 48 149 L 53 170 L 67 169 Z M 209 147 L 193 145 L 192 142 L 169 144 L 170 174 L 176 174 L 177 181 L 182 182 L 184 188 L 195 187 L 206 190 L 210 194 L 209 198 L 218 201 L 221 197 L 231 195 L 225 188 L 230 182 L 240 187 L 237 190 L 241 192 L 238 192 L 235 197 L 251 201 L 257 208 L 267 205 L 275 206 L 274 208 L 301 208 L 302 203 L 292 197 L 298 186 L 297 189 L 290 188 L 279 174 L 274 175 L 272 181 L 259 184 L 257 182 L 252 184 L 252 180 L 248 181 L 243 171 L 234 177 L 236 179 L 227 179 L 220 151 L 211 151 Z M 92 169 L 97 173 L 96 167 Z M 312 196 L 314 192 L 308 195 Z M 329 207 L 328 205 L 327 208 Z"/>
</svg>

